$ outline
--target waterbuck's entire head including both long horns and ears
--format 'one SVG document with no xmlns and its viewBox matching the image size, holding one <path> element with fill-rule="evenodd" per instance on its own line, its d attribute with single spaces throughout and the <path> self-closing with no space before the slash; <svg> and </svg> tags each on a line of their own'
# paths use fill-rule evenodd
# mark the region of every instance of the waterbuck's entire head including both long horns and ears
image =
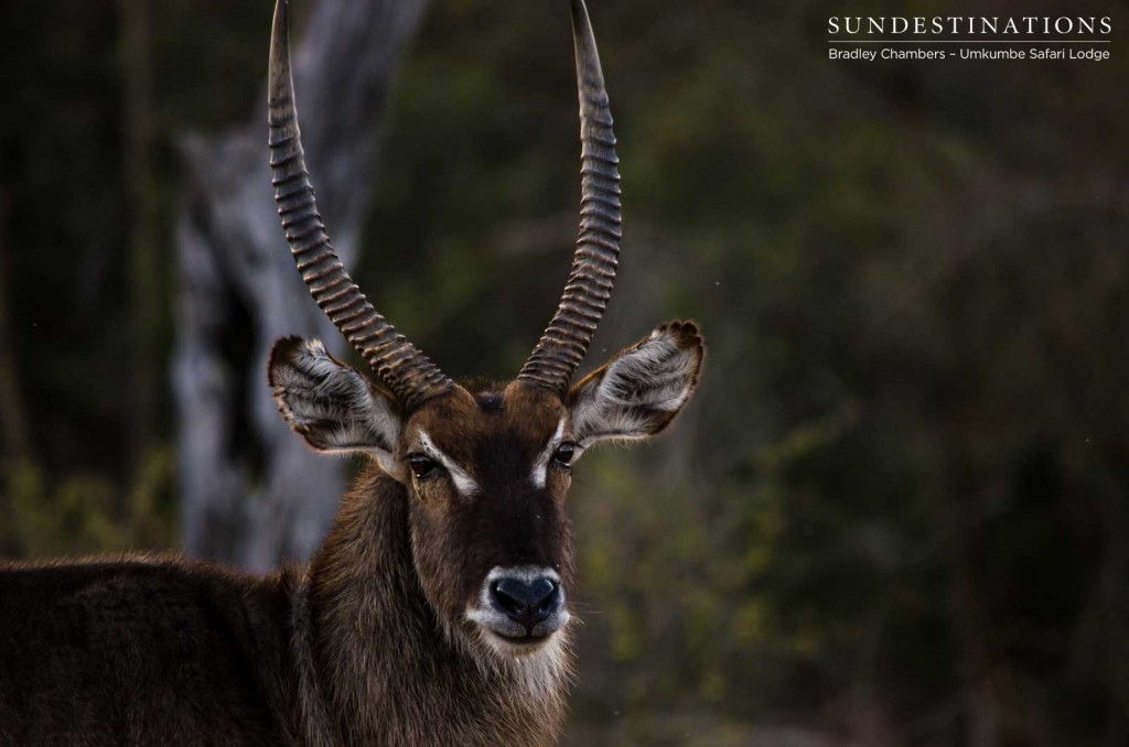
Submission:
<svg viewBox="0 0 1129 747">
<path fill-rule="evenodd" d="M 545 650 L 569 621 L 564 495 L 572 465 L 602 440 L 650 437 L 698 383 L 702 337 L 672 322 L 572 377 L 611 296 L 620 240 L 612 117 L 583 0 L 571 0 L 583 141 L 580 232 L 549 327 L 517 378 L 464 387 L 366 300 L 330 244 L 306 172 L 295 108 L 287 3 L 271 42 L 273 184 L 295 262 L 317 305 L 374 378 L 321 342 L 274 346 L 270 383 L 290 427 L 316 450 L 366 454 L 409 495 L 411 552 L 448 635 L 482 656 Z"/>
</svg>

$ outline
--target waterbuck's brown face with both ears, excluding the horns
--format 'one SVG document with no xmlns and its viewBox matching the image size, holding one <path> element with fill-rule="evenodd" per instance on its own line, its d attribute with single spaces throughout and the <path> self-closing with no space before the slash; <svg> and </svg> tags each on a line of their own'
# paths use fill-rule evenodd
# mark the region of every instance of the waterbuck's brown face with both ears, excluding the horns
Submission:
<svg viewBox="0 0 1129 747">
<path fill-rule="evenodd" d="M 309 446 L 364 452 L 405 486 L 415 570 L 447 632 L 514 657 L 559 643 L 569 622 L 572 466 L 601 440 L 665 428 L 693 392 L 702 357 L 697 327 L 672 323 L 564 396 L 522 380 L 456 385 L 406 413 L 316 340 L 277 343 L 269 376 Z"/>
</svg>

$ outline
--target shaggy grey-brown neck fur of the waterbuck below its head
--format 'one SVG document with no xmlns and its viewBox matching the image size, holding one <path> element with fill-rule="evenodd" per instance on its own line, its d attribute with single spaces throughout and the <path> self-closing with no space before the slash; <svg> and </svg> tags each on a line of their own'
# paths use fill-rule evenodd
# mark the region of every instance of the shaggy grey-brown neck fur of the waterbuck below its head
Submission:
<svg viewBox="0 0 1129 747">
<path fill-rule="evenodd" d="M 567 643 L 501 659 L 462 631 L 445 631 L 415 573 L 410 500 L 400 483 L 366 471 L 298 591 L 295 641 L 307 742 L 555 744 Z"/>
</svg>

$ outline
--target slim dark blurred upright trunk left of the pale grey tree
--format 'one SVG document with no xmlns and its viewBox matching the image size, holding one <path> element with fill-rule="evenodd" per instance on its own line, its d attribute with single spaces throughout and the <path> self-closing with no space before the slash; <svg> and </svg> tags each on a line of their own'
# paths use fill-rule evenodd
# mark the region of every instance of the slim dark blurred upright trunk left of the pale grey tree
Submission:
<svg viewBox="0 0 1129 747">
<path fill-rule="evenodd" d="M 156 446 L 160 390 L 160 327 L 165 317 L 161 289 L 160 204 L 154 166 L 152 44 L 150 0 L 120 0 L 122 19 L 125 190 L 129 210 L 129 289 L 133 360 L 130 375 L 132 423 L 130 465 L 145 468 Z"/>
</svg>

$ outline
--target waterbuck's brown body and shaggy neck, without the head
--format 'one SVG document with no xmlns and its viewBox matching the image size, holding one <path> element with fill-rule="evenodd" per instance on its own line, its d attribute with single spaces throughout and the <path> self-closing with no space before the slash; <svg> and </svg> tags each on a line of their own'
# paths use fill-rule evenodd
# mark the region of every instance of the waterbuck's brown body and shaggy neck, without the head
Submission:
<svg viewBox="0 0 1129 747">
<path fill-rule="evenodd" d="M 0 745 L 551 744 L 566 644 L 475 663 L 445 642 L 409 501 L 368 469 L 308 572 L 0 570 Z"/>
</svg>

